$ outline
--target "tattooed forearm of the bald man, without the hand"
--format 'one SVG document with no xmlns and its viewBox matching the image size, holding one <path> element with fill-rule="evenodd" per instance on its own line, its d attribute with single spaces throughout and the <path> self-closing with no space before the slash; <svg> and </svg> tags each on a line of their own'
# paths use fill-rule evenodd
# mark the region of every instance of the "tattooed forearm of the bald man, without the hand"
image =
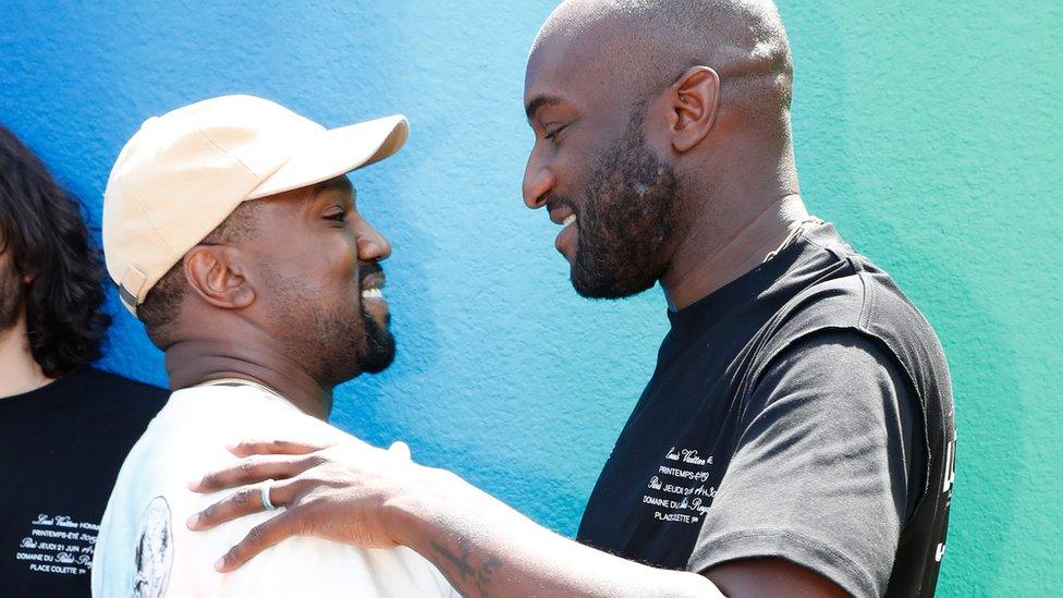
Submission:
<svg viewBox="0 0 1063 598">
<path fill-rule="evenodd" d="M 391 504 L 396 538 L 464 596 L 721 596 L 696 573 L 655 569 L 563 538 L 439 469 Z"/>
</svg>

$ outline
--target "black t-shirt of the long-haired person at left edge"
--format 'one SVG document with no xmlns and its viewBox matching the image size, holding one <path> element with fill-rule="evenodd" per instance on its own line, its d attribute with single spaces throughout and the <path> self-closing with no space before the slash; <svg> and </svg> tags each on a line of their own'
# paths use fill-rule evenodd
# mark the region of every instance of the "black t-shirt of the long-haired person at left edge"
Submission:
<svg viewBox="0 0 1063 598">
<path fill-rule="evenodd" d="M 0 596 L 89 596 L 114 479 L 168 395 L 86 366 L 0 399 Z"/>
</svg>

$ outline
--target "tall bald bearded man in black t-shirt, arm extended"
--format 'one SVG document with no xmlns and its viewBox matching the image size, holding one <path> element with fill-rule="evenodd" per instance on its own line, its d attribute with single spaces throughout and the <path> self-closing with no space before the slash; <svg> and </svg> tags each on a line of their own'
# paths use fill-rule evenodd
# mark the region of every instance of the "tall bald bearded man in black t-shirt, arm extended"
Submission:
<svg viewBox="0 0 1063 598">
<path fill-rule="evenodd" d="M 272 478 L 288 510 L 220 569 L 309 534 L 408 546 L 468 596 L 932 595 L 946 363 L 890 277 L 806 211 L 792 82 L 766 1 L 572 1 L 535 39 L 525 203 L 563 227 L 576 292 L 660 282 L 672 326 L 578 541 L 447 472 L 375 468 L 362 443 L 248 439 L 197 489 Z M 258 511 L 251 491 L 190 525 Z"/>
</svg>

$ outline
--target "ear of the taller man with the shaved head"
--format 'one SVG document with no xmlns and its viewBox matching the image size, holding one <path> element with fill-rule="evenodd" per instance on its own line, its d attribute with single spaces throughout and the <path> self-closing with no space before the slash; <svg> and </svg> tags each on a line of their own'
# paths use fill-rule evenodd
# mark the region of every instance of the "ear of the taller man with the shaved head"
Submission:
<svg viewBox="0 0 1063 598">
<path fill-rule="evenodd" d="M 691 66 L 669 87 L 672 149 L 683 154 L 709 134 L 720 107 L 720 75 L 708 66 Z"/>
</svg>

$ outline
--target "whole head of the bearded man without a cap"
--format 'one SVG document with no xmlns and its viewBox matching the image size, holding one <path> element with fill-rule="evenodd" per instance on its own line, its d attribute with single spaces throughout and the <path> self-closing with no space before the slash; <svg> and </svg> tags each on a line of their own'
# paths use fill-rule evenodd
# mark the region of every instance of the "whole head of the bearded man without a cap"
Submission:
<svg viewBox="0 0 1063 598">
<path fill-rule="evenodd" d="M 569 0 L 532 46 L 523 195 L 573 288 L 682 280 L 797 192 L 793 61 L 768 0 Z"/>
</svg>

